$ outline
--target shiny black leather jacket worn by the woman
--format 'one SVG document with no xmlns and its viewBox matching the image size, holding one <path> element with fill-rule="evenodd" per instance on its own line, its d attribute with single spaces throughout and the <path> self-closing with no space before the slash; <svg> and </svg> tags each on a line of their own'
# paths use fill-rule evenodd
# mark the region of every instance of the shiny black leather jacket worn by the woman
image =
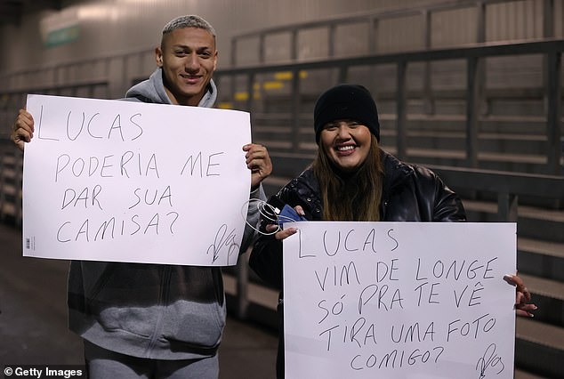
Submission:
<svg viewBox="0 0 564 379">
<path fill-rule="evenodd" d="M 382 152 L 384 181 L 380 214 L 384 222 L 464 222 L 460 198 L 431 170 L 407 165 Z M 311 168 L 290 181 L 277 195 L 289 206 L 302 206 L 310 221 L 321 220 L 323 204 Z M 271 286 L 282 289 L 282 242 L 261 236 L 250 256 L 251 268 Z"/>
</svg>

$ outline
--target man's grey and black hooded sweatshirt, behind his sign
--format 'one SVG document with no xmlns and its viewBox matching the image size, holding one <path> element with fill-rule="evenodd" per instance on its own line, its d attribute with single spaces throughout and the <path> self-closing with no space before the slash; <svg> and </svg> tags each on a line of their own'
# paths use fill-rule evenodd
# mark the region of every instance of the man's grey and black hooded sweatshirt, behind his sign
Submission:
<svg viewBox="0 0 564 379">
<path fill-rule="evenodd" d="M 170 104 L 162 70 L 134 85 L 125 101 Z M 217 98 L 213 82 L 200 107 Z M 252 198 L 266 199 L 262 187 Z M 257 225 L 255 206 L 247 222 Z M 246 225 L 241 253 L 253 242 Z M 177 254 L 182 254 L 181 248 Z M 110 351 L 149 359 L 213 356 L 225 326 L 225 296 L 218 267 L 73 261 L 68 275 L 69 328 Z"/>
</svg>

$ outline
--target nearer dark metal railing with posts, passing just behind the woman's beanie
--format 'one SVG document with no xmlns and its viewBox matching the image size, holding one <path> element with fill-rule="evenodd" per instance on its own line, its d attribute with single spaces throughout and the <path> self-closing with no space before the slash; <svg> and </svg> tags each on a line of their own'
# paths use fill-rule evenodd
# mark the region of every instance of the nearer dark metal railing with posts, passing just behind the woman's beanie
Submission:
<svg viewBox="0 0 564 379">
<path fill-rule="evenodd" d="M 479 70 L 485 60 L 492 57 L 540 55 L 544 58 L 546 80 L 541 85 L 542 101 L 545 103 L 544 113 L 544 137 L 547 141 L 544 157 L 546 164 L 543 173 L 562 174 L 562 92 L 561 92 L 561 55 L 564 51 L 564 40 L 542 40 L 537 42 L 513 43 L 513 44 L 476 44 L 463 48 L 447 48 L 419 52 L 397 52 L 391 54 L 375 54 L 360 57 L 348 57 L 332 60 L 311 60 L 306 62 L 294 62 L 283 64 L 262 64 L 253 67 L 220 69 L 215 73 L 216 80 L 220 85 L 225 84 L 236 91 L 232 83 L 238 78 L 238 85 L 243 88 L 248 96 L 245 102 L 238 104 L 239 109 L 251 112 L 254 133 L 261 133 L 262 125 L 256 122 L 256 115 L 260 114 L 260 102 L 254 99 L 254 88 L 259 83 L 258 77 L 273 75 L 277 72 L 291 73 L 290 89 L 285 94 L 286 101 L 290 102 L 286 120 L 290 120 L 290 131 L 284 138 L 290 145 L 285 149 L 290 155 L 304 154 L 302 146 L 302 115 L 310 109 L 302 109 L 303 90 L 300 73 L 304 71 L 331 70 L 336 71 L 333 82 L 327 81 L 321 85 L 326 88 L 336 83 L 348 81 L 351 69 L 359 67 L 378 67 L 383 65 L 395 66 L 396 93 L 395 93 L 395 121 L 397 139 L 395 152 L 400 159 L 407 159 L 407 101 L 410 93 L 407 90 L 407 67 L 417 62 L 437 62 L 444 60 L 465 61 L 466 83 L 463 90 L 465 113 L 461 115 L 465 124 L 465 151 L 463 165 L 470 168 L 478 168 L 479 151 L 479 101 L 487 98 L 487 90 L 480 84 Z M 308 80 L 308 79 L 303 79 Z M 367 79 L 368 80 L 368 79 Z M 377 93 L 375 94 L 377 97 Z M 518 115 L 523 116 L 523 115 Z M 277 149 L 271 149 L 277 154 Z M 307 155 L 307 153 L 306 153 Z"/>
</svg>

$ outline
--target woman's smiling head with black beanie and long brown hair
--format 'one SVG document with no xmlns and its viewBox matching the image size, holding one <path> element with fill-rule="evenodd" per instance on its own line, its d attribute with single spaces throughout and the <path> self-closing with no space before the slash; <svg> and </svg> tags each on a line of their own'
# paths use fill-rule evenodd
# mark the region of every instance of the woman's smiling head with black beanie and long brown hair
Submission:
<svg viewBox="0 0 564 379">
<path fill-rule="evenodd" d="M 383 164 L 372 95 L 362 85 L 336 85 L 319 96 L 313 121 L 324 219 L 380 221 Z"/>
</svg>

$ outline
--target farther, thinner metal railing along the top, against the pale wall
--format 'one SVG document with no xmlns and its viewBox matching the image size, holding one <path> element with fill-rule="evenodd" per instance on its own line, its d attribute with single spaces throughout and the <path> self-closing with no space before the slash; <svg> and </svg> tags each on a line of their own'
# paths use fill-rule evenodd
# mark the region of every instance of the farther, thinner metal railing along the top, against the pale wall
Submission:
<svg viewBox="0 0 564 379">
<path fill-rule="evenodd" d="M 441 4 L 425 4 L 422 6 L 412 6 L 404 9 L 397 9 L 391 11 L 379 11 L 379 12 L 362 12 L 357 14 L 350 14 L 339 17 L 332 17 L 320 20 L 311 20 L 306 22 L 298 22 L 290 25 L 276 26 L 271 28 L 261 28 L 258 30 L 248 31 L 246 33 L 241 33 L 236 36 L 231 37 L 231 56 L 230 63 L 231 67 L 240 66 L 238 61 L 238 52 L 243 52 L 246 55 L 249 44 L 249 40 L 258 40 L 256 44 L 257 63 L 265 64 L 267 61 L 267 39 L 268 37 L 276 36 L 288 36 L 289 41 L 286 42 L 287 46 L 287 60 L 288 61 L 298 61 L 300 60 L 300 36 L 305 35 L 308 32 L 314 31 L 325 31 L 326 32 L 326 46 L 321 48 L 321 50 L 326 52 L 326 58 L 333 59 L 337 56 L 336 46 L 337 46 L 337 31 L 338 28 L 350 27 L 350 26 L 365 26 L 366 31 L 360 32 L 359 39 L 363 38 L 363 34 L 366 33 L 364 38 L 367 46 L 367 51 L 363 53 L 375 54 L 375 53 L 388 53 L 385 48 L 379 44 L 379 35 L 384 35 L 381 30 L 383 23 L 385 21 L 391 20 L 417 20 L 416 22 L 409 22 L 409 25 L 413 28 L 419 28 L 419 32 L 415 33 L 412 38 L 415 37 L 415 41 L 410 41 L 410 44 L 415 44 L 417 49 L 421 50 L 431 50 L 437 48 L 438 46 L 433 44 L 433 18 L 436 15 L 444 12 L 452 11 L 465 11 L 468 14 L 467 19 L 470 20 L 468 27 L 475 28 L 474 36 L 471 37 L 471 43 L 481 44 L 488 41 L 487 38 L 487 17 L 492 9 L 498 4 L 527 4 L 527 0 L 462 0 L 462 1 L 447 1 Z M 529 3 L 530 4 L 530 3 Z M 553 38 L 556 36 L 556 20 L 559 22 L 558 16 L 555 9 L 555 0 L 543 0 L 540 5 L 542 7 L 542 15 L 540 18 L 540 24 L 542 25 L 542 30 L 536 32 L 533 38 Z M 495 13 L 495 12 L 491 12 Z M 537 20 L 537 19 L 536 19 Z M 419 41 L 416 39 L 420 38 Z M 512 36 L 505 36 L 504 40 L 513 40 Z M 491 39 L 490 39 L 491 41 Z M 468 41 L 464 41 L 468 42 Z M 319 41 L 319 44 L 324 44 L 323 41 Z M 460 44 L 460 42 L 458 43 Z M 239 48 L 239 46 L 241 48 Z M 246 48 L 243 48 L 246 47 Z M 286 51 L 284 45 L 278 47 L 276 51 L 280 49 Z M 403 48 L 402 50 L 406 50 Z M 251 52 L 252 54 L 253 52 Z M 325 57 L 324 57 L 325 58 Z M 543 68 L 544 69 L 544 68 Z M 484 75 L 483 69 L 476 70 L 476 76 L 478 77 L 477 85 L 483 85 L 487 78 Z M 431 96 L 431 65 L 429 62 L 424 63 L 423 73 L 423 101 L 424 109 L 427 114 L 433 114 L 435 109 L 435 104 Z"/>
</svg>

